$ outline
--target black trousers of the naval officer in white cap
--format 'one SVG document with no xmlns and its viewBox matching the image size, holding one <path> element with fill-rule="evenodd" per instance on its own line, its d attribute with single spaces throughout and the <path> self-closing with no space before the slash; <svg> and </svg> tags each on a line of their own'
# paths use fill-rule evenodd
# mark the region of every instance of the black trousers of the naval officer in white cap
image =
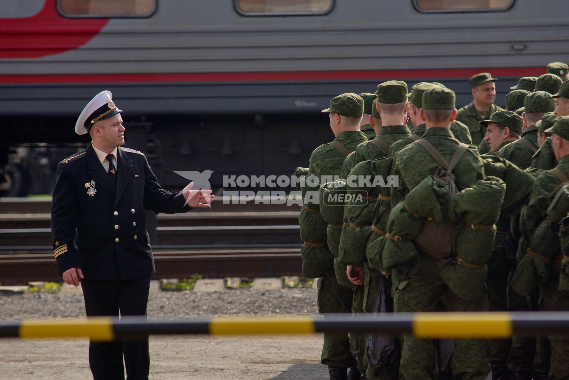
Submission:
<svg viewBox="0 0 569 380">
<path fill-rule="evenodd" d="M 85 311 L 90 316 L 146 315 L 150 275 L 131 280 L 81 279 Z M 89 366 L 94 380 L 147 380 L 150 371 L 148 338 L 139 341 L 90 342 Z"/>
</svg>

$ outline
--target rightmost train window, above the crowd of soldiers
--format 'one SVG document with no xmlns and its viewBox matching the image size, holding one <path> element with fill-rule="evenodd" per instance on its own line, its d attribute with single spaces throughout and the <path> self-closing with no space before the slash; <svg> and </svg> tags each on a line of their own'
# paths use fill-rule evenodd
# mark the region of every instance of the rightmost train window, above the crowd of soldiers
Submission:
<svg viewBox="0 0 569 380">
<path fill-rule="evenodd" d="M 514 0 L 414 0 L 415 7 L 424 12 L 504 11 Z"/>
</svg>

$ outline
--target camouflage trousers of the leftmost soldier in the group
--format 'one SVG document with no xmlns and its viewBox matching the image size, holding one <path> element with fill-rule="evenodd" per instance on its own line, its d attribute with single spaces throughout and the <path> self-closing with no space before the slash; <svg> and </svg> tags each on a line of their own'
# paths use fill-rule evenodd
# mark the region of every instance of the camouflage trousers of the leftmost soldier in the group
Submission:
<svg viewBox="0 0 569 380">
<path fill-rule="evenodd" d="M 352 290 L 337 282 L 333 269 L 318 279 L 318 312 L 352 312 Z M 348 333 L 324 333 L 321 363 L 329 367 L 344 368 L 356 365 L 350 352 Z"/>
</svg>

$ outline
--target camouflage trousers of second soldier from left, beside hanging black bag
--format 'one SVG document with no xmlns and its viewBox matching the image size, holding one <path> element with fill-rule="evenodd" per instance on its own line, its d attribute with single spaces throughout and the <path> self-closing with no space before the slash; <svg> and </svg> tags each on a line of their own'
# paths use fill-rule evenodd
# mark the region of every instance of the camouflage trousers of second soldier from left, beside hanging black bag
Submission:
<svg viewBox="0 0 569 380">
<path fill-rule="evenodd" d="M 373 312 L 376 302 L 377 290 L 380 286 L 381 273 L 377 273 L 364 265 L 364 285 L 358 286 L 353 290 L 352 313 Z M 360 371 L 365 371 L 367 380 L 391 380 L 397 379 L 397 368 L 376 369 L 368 365 L 366 356 L 366 346 L 368 344 L 368 333 L 351 333 L 351 349 L 353 356 L 357 357 L 357 367 Z"/>
</svg>

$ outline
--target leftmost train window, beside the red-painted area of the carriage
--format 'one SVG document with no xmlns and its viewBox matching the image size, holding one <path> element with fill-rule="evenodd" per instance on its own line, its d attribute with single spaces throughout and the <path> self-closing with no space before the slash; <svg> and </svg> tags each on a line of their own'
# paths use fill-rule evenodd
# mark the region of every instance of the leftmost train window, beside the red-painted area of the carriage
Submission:
<svg viewBox="0 0 569 380">
<path fill-rule="evenodd" d="M 59 11 L 68 17 L 146 17 L 156 0 L 59 0 Z"/>
</svg>

